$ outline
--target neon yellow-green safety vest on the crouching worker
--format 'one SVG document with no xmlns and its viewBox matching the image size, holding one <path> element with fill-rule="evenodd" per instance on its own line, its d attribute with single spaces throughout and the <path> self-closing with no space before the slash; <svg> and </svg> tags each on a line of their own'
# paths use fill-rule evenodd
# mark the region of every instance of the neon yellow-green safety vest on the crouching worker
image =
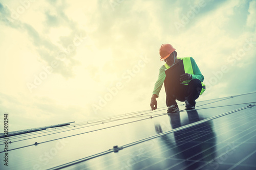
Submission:
<svg viewBox="0 0 256 170">
<path fill-rule="evenodd" d="M 178 57 L 177 57 L 178 58 Z M 184 58 L 178 58 L 180 60 L 183 60 L 183 64 L 184 64 L 184 71 L 185 73 L 188 73 L 188 74 L 194 74 L 193 72 L 193 67 L 192 67 L 192 64 L 191 64 L 191 60 L 190 60 L 190 57 L 184 57 Z M 165 63 L 164 66 L 166 67 L 166 69 L 170 68 L 170 66 Z M 181 84 L 184 84 L 184 85 L 188 85 L 188 83 L 190 82 L 191 80 L 186 80 L 186 81 L 183 81 Z M 205 84 L 202 83 L 202 90 L 200 92 L 200 95 L 203 94 L 203 92 L 205 91 Z"/>
</svg>

